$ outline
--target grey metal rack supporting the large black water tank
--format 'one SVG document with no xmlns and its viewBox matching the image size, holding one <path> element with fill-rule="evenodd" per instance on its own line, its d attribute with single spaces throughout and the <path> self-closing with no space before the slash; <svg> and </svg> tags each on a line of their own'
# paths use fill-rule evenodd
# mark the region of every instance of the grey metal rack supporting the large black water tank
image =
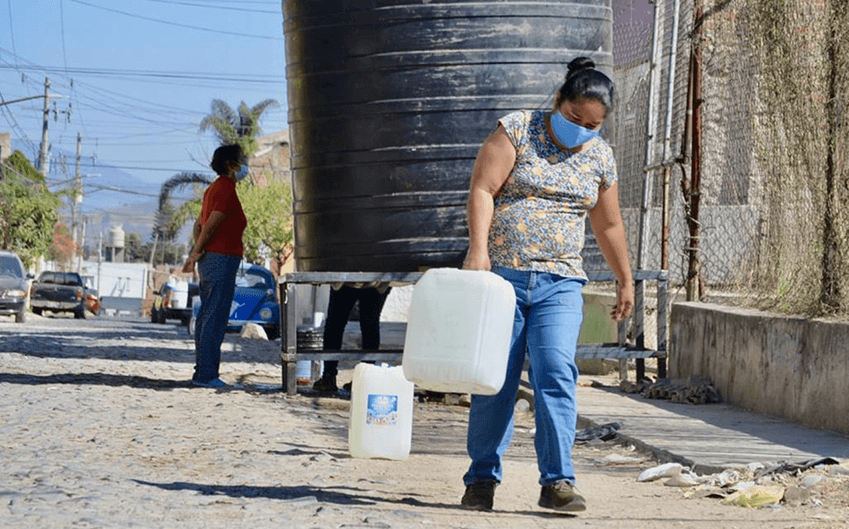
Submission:
<svg viewBox="0 0 849 529">
<path fill-rule="evenodd" d="M 415 284 L 423 272 L 293 272 L 280 276 L 280 360 L 282 386 L 286 393 L 298 391 L 295 366 L 299 360 L 358 360 L 400 363 L 403 349 L 344 349 L 339 351 L 306 350 L 298 347 L 297 295 L 295 285 L 325 285 L 334 283 L 368 284 L 387 283 L 390 286 Z M 614 281 L 611 272 L 587 272 L 590 281 Z M 657 282 L 657 348 L 645 347 L 646 282 Z M 668 273 L 666 270 L 637 270 L 634 272 L 635 299 L 633 318 L 635 334 L 633 345 L 626 340 L 627 326 L 619 325 L 619 342 L 612 344 L 580 344 L 576 358 L 605 358 L 626 362 L 636 359 L 637 379 L 645 376 L 645 359 L 657 358 L 658 376 L 666 377 Z"/>
</svg>

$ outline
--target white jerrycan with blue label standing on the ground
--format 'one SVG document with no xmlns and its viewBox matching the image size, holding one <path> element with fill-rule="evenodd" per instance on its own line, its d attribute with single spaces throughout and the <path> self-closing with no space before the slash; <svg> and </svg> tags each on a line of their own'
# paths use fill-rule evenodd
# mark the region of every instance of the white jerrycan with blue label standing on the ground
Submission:
<svg viewBox="0 0 849 529">
<path fill-rule="evenodd" d="M 351 457 L 406 459 L 413 433 L 413 383 L 401 366 L 359 363 L 351 382 Z"/>
</svg>

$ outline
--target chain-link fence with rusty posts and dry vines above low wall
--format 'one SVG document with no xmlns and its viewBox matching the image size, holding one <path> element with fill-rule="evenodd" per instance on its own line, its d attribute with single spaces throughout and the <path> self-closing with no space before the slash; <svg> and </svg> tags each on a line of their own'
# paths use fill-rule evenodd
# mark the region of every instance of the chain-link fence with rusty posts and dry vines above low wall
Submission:
<svg viewBox="0 0 849 529">
<path fill-rule="evenodd" d="M 847 4 L 613 2 L 635 268 L 689 299 L 849 315 Z"/>
</svg>

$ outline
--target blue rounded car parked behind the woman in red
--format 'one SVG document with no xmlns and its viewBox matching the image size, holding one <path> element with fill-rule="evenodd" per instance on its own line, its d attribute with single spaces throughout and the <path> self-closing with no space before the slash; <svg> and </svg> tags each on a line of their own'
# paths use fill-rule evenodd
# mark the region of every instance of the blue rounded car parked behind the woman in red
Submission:
<svg viewBox="0 0 849 529">
<path fill-rule="evenodd" d="M 196 296 L 192 302 L 189 336 L 195 335 L 200 305 L 200 296 Z M 274 274 L 267 268 L 242 261 L 236 273 L 236 291 L 230 305 L 227 331 L 239 332 L 246 323 L 261 326 L 269 340 L 280 336 L 280 303 Z"/>
</svg>

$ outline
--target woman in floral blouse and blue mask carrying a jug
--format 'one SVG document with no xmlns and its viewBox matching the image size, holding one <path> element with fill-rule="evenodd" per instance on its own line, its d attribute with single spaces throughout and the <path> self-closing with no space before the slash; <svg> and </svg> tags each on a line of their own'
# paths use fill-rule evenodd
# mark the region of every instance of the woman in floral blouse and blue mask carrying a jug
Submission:
<svg viewBox="0 0 849 529">
<path fill-rule="evenodd" d="M 516 313 L 507 377 L 492 396 L 474 395 L 463 476 L 468 509 L 492 509 L 501 459 L 513 434 L 513 404 L 527 350 L 534 391 L 534 444 L 542 490 L 539 505 L 586 509 L 575 486 L 571 452 L 577 420 L 575 350 L 581 289 L 587 283 L 581 249 L 589 216 L 599 248 L 618 280 L 611 316 L 626 318 L 634 286 L 619 210 L 616 165 L 598 136 L 613 102 L 613 82 L 579 57 L 569 63 L 550 111 L 501 118 L 483 142 L 468 202 L 469 251 L 463 268 L 492 270 L 513 284 Z"/>
</svg>

